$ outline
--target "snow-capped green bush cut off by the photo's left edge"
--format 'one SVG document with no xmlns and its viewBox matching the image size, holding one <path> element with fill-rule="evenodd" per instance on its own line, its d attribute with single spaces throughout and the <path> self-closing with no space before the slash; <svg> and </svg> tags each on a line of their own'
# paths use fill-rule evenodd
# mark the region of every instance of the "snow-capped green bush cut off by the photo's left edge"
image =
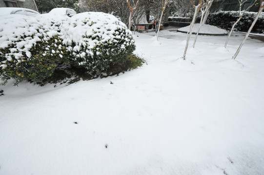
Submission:
<svg viewBox="0 0 264 175">
<path fill-rule="evenodd" d="M 42 82 L 66 54 L 59 33 L 34 17 L 1 16 L 0 78 Z"/>
</svg>

